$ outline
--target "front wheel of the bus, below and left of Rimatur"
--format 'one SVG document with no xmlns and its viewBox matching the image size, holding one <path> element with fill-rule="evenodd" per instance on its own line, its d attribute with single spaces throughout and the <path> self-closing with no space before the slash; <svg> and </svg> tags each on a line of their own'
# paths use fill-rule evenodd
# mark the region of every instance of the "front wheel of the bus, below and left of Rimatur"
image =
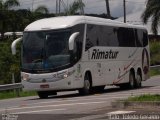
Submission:
<svg viewBox="0 0 160 120">
<path fill-rule="evenodd" d="M 88 95 L 91 93 L 91 88 L 92 88 L 92 84 L 91 84 L 89 74 L 86 74 L 84 77 L 84 86 L 82 89 L 79 90 L 79 94 Z"/>
</svg>

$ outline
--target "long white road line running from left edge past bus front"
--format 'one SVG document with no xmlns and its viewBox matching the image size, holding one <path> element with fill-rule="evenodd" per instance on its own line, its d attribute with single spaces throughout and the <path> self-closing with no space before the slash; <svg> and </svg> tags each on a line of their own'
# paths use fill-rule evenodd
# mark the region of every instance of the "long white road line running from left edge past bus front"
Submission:
<svg viewBox="0 0 160 120">
<path fill-rule="evenodd" d="M 85 102 L 85 103 L 70 103 L 70 104 L 59 104 L 59 105 L 45 105 L 45 106 L 32 106 L 32 107 L 21 107 L 21 108 L 9 108 L 9 109 L 3 109 L 4 110 L 22 110 L 22 109 L 35 109 L 35 108 L 44 108 L 44 107 L 60 107 L 60 106 L 74 106 L 74 105 L 88 105 L 88 104 L 101 104 L 106 103 L 107 101 L 101 101 L 101 102 Z"/>
</svg>

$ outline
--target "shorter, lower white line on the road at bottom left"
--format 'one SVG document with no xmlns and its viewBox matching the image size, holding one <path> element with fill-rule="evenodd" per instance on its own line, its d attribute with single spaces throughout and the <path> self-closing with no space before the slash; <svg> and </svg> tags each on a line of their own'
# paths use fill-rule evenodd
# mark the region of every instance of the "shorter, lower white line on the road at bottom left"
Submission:
<svg viewBox="0 0 160 120">
<path fill-rule="evenodd" d="M 16 113 L 11 113 L 11 114 L 27 114 L 27 113 L 39 113 L 39 112 L 51 112 L 51 111 L 62 111 L 62 110 L 67 110 L 67 109 L 50 109 L 50 110 L 37 110 L 37 111 L 26 111 L 26 112 L 16 112 Z"/>
</svg>

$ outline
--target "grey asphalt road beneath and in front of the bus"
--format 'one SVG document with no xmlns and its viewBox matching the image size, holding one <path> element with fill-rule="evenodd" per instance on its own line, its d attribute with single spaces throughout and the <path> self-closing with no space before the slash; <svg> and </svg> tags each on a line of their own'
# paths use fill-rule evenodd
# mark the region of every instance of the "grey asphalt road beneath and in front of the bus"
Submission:
<svg viewBox="0 0 160 120">
<path fill-rule="evenodd" d="M 117 112 L 139 114 L 140 111 L 111 108 L 112 101 L 129 96 L 156 93 L 160 93 L 160 76 L 152 77 L 143 82 L 142 88 L 134 90 L 121 90 L 118 87 L 106 86 L 103 92 L 89 96 L 80 96 L 77 91 L 73 91 L 59 92 L 57 96 L 51 96 L 48 99 L 39 99 L 38 96 L 34 96 L 0 100 L 0 120 L 7 120 L 4 119 L 5 117 L 15 120 L 120 119 L 125 116 L 115 116 Z"/>
</svg>

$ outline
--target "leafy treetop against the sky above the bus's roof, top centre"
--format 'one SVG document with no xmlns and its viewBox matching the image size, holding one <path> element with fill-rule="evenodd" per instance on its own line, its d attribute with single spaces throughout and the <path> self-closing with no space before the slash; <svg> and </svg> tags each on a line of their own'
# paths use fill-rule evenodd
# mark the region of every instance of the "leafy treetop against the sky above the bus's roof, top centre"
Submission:
<svg viewBox="0 0 160 120">
<path fill-rule="evenodd" d="M 65 9 L 65 14 L 66 15 L 74 15 L 76 14 L 76 12 L 78 10 L 82 10 L 83 7 L 85 6 L 85 4 L 80 1 L 80 0 L 77 0 L 77 1 L 74 1 L 68 9 Z"/>
</svg>

